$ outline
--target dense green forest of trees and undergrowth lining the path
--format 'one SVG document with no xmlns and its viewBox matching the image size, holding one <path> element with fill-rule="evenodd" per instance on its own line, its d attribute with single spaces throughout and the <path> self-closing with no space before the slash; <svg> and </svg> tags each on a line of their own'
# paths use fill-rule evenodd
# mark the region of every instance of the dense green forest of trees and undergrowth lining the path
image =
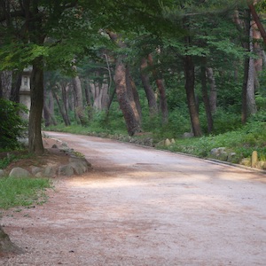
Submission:
<svg viewBox="0 0 266 266">
<path fill-rule="evenodd" d="M 43 153 L 41 131 L 52 129 L 168 138 L 202 157 L 226 146 L 234 162 L 255 149 L 264 160 L 265 10 L 248 0 L 1 1 L 0 143 L 24 125 L 14 103 L 30 66 L 30 153 Z"/>
</svg>

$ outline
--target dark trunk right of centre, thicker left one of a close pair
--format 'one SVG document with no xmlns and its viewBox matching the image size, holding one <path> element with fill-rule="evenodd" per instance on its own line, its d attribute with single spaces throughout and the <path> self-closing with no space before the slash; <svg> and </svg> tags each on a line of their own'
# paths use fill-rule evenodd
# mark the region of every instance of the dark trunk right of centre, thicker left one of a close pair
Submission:
<svg viewBox="0 0 266 266">
<path fill-rule="evenodd" d="M 192 62 L 192 56 L 189 55 L 184 57 L 184 77 L 185 77 L 186 98 L 192 122 L 193 134 L 195 137 L 200 137 L 202 135 L 200 129 L 200 117 L 194 93 L 194 82 L 195 82 L 194 65 Z"/>
</svg>

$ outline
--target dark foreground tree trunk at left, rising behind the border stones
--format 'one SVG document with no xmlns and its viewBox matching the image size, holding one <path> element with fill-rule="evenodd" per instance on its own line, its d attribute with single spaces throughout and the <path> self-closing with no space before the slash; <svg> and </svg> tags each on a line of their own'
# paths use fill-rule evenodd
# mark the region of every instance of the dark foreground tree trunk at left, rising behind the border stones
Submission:
<svg viewBox="0 0 266 266">
<path fill-rule="evenodd" d="M 43 114 L 43 58 L 38 57 L 33 62 L 31 74 L 30 97 L 31 106 L 28 121 L 29 153 L 43 154 L 43 139 L 41 121 Z"/>
</svg>

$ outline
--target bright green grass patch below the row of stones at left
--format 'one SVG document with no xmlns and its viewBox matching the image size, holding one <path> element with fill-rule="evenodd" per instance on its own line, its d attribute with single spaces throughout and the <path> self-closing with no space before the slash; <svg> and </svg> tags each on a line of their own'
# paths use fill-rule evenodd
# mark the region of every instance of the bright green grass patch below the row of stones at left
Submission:
<svg viewBox="0 0 266 266">
<path fill-rule="evenodd" d="M 0 208 L 30 207 L 43 204 L 46 200 L 45 190 L 51 188 L 46 178 L 0 178 Z"/>
</svg>

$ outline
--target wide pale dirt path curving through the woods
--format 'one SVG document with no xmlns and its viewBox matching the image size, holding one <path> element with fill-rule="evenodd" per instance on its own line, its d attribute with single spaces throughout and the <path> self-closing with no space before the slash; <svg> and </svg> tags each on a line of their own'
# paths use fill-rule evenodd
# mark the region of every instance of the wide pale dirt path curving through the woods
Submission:
<svg viewBox="0 0 266 266">
<path fill-rule="evenodd" d="M 0 265 L 265 265 L 266 176 L 98 137 L 50 132 L 93 169 L 1 223 L 25 254 Z"/>
</svg>

